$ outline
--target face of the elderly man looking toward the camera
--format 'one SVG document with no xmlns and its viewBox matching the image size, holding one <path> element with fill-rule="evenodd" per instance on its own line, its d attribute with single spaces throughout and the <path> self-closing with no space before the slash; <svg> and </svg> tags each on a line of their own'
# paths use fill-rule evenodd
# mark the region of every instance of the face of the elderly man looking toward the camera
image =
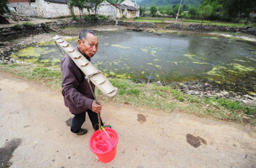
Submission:
<svg viewBox="0 0 256 168">
<path fill-rule="evenodd" d="M 93 55 L 98 51 L 98 38 L 93 34 L 87 33 L 87 37 L 84 42 L 79 39 L 77 43 L 79 50 L 87 57 L 93 57 Z"/>
</svg>

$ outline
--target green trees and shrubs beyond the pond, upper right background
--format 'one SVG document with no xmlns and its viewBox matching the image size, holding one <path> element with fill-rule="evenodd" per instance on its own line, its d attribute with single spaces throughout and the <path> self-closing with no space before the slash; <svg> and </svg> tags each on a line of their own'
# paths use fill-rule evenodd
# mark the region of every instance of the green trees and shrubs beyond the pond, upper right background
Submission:
<svg viewBox="0 0 256 168">
<path fill-rule="evenodd" d="M 174 22 L 179 11 L 177 21 L 182 23 L 256 27 L 255 0 L 195 0 L 193 3 L 184 0 L 181 6 L 180 0 L 163 0 L 161 3 L 140 0 L 140 3 L 141 17 L 134 21 Z"/>
</svg>

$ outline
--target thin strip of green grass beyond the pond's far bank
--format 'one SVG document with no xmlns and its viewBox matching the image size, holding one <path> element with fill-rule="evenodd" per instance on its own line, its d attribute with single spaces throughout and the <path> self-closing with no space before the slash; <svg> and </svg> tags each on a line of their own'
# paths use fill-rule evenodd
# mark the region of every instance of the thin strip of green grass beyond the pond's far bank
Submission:
<svg viewBox="0 0 256 168">
<path fill-rule="evenodd" d="M 169 17 L 138 17 L 138 18 L 134 18 L 133 21 L 152 22 L 152 23 L 161 23 L 164 21 L 170 21 L 175 23 L 175 19 L 176 18 L 169 18 Z M 129 21 L 132 21 L 132 20 L 129 20 Z M 188 24 L 207 24 L 207 25 L 233 26 L 233 27 L 253 26 L 253 23 L 249 23 L 249 22 L 247 24 L 244 24 L 244 23 L 216 22 L 211 20 L 195 20 L 195 19 L 193 20 L 193 19 L 183 19 L 183 18 L 178 18 L 177 22 L 188 23 Z"/>
</svg>

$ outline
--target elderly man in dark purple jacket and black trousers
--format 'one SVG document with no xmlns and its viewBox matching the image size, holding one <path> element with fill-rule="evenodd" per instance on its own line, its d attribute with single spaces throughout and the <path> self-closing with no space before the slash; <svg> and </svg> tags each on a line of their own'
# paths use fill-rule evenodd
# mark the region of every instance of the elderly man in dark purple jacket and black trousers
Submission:
<svg viewBox="0 0 256 168">
<path fill-rule="evenodd" d="M 82 30 L 77 44 L 76 49 L 89 61 L 98 51 L 98 38 L 93 31 Z M 100 113 L 102 105 L 98 105 L 94 100 L 89 83 L 85 80 L 85 74 L 67 54 L 61 61 L 61 72 L 64 104 L 75 115 L 72 120 L 71 131 L 78 135 L 87 133 L 87 129 L 81 128 L 85 121 L 86 111 L 92 122 L 93 129 L 95 131 L 98 130 L 99 121 L 97 113 Z M 90 82 L 90 84 L 94 91 L 93 83 Z M 101 123 L 103 123 L 102 120 Z M 111 128 L 110 125 L 105 127 Z"/>
</svg>

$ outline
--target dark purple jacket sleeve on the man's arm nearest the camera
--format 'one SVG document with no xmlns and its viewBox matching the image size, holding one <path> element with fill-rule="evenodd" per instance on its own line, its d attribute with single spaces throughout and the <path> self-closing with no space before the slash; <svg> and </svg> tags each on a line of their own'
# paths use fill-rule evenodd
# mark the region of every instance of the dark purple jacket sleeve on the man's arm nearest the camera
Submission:
<svg viewBox="0 0 256 168">
<path fill-rule="evenodd" d="M 89 99 L 79 91 L 77 91 L 77 87 L 79 87 L 81 81 L 81 76 L 74 70 L 72 65 L 62 65 L 61 66 L 62 73 L 62 95 L 64 100 L 69 103 L 72 103 L 77 108 L 83 108 L 84 111 L 87 109 L 91 110 L 91 105 L 93 103 L 93 99 Z M 70 107 L 69 107 L 70 108 Z M 70 110 L 71 111 L 71 110 Z M 71 111 L 72 112 L 72 111 Z"/>
</svg>

